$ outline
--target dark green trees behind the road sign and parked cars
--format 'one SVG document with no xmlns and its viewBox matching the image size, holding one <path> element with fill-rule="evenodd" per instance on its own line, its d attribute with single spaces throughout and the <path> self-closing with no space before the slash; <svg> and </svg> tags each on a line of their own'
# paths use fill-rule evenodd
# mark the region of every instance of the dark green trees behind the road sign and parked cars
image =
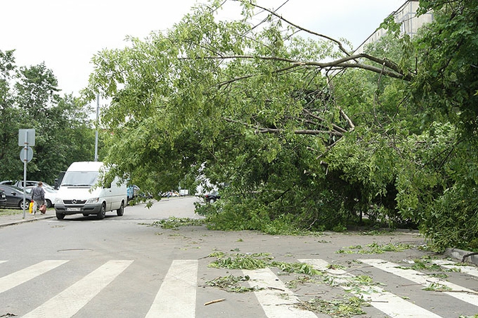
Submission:
<svg viewBox="0 0 478 318">
<path fill-rule="evenodd" d="M 23 179 L 18 130 L 35 129 L 27 177 L 53 184 L 73 161 L 91 160 L 94 132 L 79 98 L 60 97 L 57 79 L 44 63 L 17 67 L 14 51 L 0 51 L 1 180 Z"/>
</svg>

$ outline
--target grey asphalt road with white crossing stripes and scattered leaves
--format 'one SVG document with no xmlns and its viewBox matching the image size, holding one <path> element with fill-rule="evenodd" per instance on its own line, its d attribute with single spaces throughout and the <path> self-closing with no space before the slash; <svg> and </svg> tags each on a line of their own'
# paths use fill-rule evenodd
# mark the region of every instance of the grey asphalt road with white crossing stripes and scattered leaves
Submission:
<svg viewBox="0 0 478 318">
<path fill-rule="evenodd" d="M 198 218 L 196 200 L 136 205 L 123 217 L 109 212 L 104 220 L 72 215 L 1 227 L 0 317 L 334 317 L 297 304 L 314 297 L 341 301 L 344 295 L 370 299 L 365 314 L 356 317 L 478 313 L 476 268 L 450 271 L 428 263 L 431 269 L 403 269 L 443 259 L 419 249 L 425 242 L 414 232 L 288 237 L 150 226 L 171 216 Z M 403 244 L 410 248 L 384 251 Z M 210 267 L 216 260 L 210 256 L 219 253 L 232 260 L 238 254 L 273 260 L 261 270 Z M 286 275 L 271 261 L 310 263 L 322 275 Z M 210 286 L 226 276 L 249 276 L 243 286 L 263 289 L 231 293 Z"/>
</svg>

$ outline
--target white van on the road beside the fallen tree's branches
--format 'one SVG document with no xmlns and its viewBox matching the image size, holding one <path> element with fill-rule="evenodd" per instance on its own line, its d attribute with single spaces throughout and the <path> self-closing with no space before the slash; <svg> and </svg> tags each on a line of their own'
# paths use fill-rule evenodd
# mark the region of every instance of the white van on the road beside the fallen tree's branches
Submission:
<svg viewBox="0 0 478 318">
<path fill-rule="evenodd" d="M 103 162 L 97 161 L 74 162 L 69 166 L 55 198 L 58 220 L 78 213 L 96 215 L 101 220 L 107 211 L 112 210 L 116 210 L 118 216 L 123 215 L 127 203 L 126 185 L 118 186 L 118 178 L 106 188 L 96 185 L 105 169 Z"/>
</svg>

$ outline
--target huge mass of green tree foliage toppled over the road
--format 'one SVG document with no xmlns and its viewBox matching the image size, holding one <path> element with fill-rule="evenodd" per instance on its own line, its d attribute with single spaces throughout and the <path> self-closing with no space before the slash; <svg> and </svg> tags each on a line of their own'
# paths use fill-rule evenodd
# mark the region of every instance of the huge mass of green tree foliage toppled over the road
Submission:
<svg viewBox="0 0 478 318">
<path fill-rule="evenodd" d="M 437 249 L 476 248 L 477 0 L 421 0 L 436 21 L 418 37 L 388 19 L 389 35 L 359 55 L 236 4 L 237 20 L 219 21 L 210 1 L 93 58 L 84 93 L 112 98 L 112 173 L 152 193 L 210 181 L 221 202 L 198 212 L 214 229 L 366 219 L 418 227 Z M 256 10 L 266 18 L 251 26 Z"/>
</svg>

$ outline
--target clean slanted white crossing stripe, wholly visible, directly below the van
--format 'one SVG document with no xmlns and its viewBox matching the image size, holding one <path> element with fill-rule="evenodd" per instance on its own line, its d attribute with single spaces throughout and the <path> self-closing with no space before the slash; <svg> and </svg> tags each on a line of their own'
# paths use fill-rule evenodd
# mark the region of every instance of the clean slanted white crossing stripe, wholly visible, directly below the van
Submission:
<svg viewBox="0 0 478 318">
<path fill-rule="evenodd" d="M 72 317 L 133 261 L 108 261 L 23 317 Z"/>
</svg>

